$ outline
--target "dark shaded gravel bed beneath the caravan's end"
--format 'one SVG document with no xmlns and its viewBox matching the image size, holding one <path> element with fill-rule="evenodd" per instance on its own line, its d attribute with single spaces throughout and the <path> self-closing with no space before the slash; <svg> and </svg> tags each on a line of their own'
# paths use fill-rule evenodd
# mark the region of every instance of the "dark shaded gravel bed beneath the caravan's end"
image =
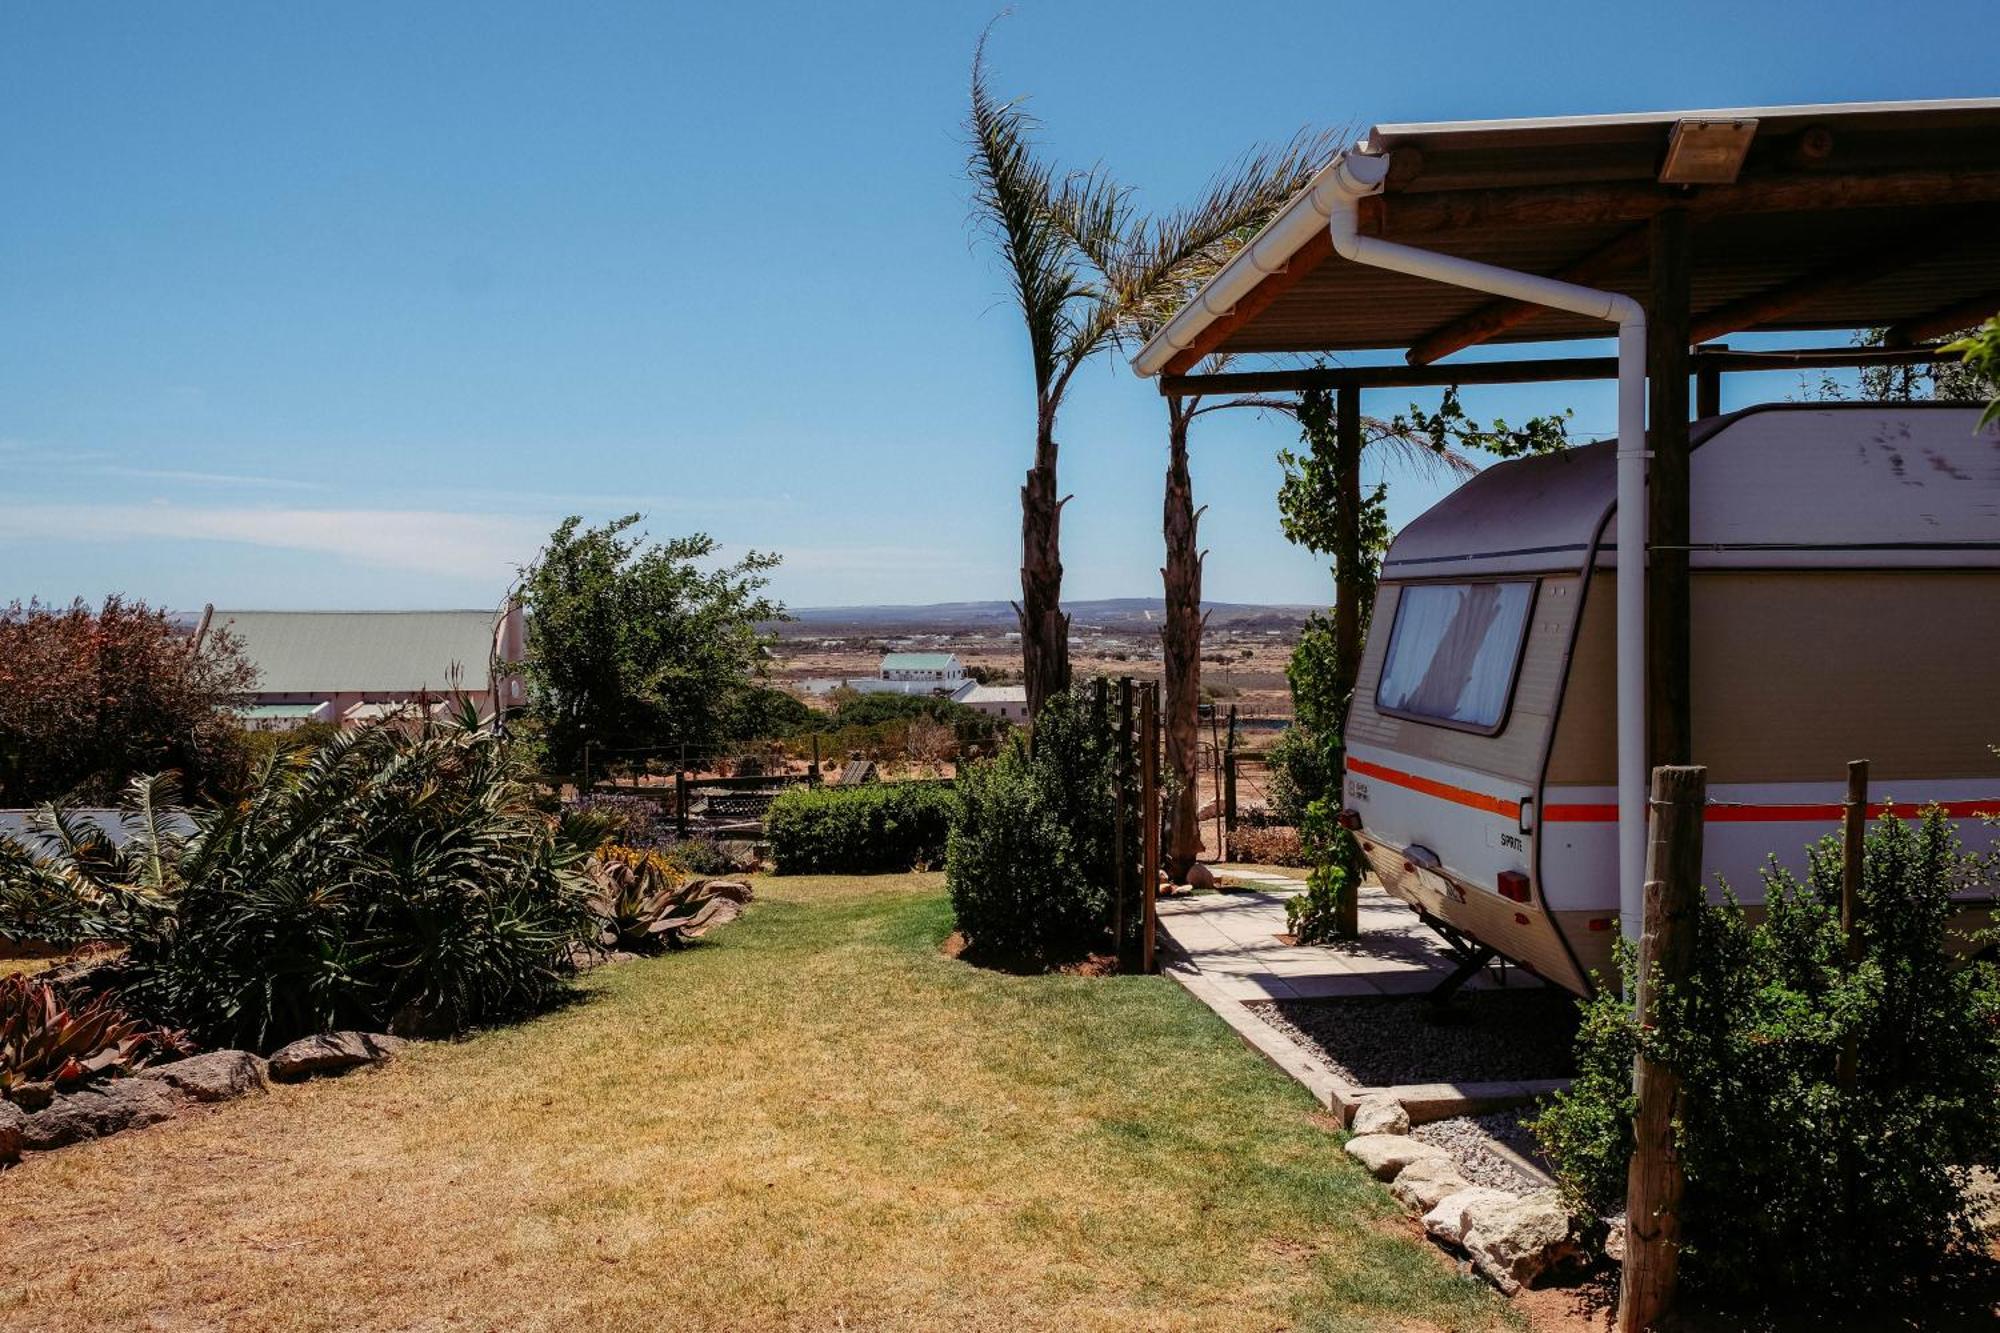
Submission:
<svg viewBox="0 0 2000 1333">
<path fill-rule="evenodd" d="M 1568 1079 L 1576 997 L 1556 987 L 1462 991 L 1450 1021 L 1424 997 L 1352 997 L 1250 1005 L 1360 1087 Z"/>
</svg>

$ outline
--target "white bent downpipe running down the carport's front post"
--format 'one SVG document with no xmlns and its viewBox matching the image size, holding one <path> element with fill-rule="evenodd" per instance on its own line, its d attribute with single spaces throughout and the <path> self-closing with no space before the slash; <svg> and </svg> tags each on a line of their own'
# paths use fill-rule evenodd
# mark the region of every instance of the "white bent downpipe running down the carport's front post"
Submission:
<svg viewBox="0 0 2000 1333">
<path fill-rule="evenodd" d="M 1618 925 L 1636 943 L 1646 883 L 1646 308 L 1622 292 L 1362 236 L 1358 204 L 1386 178 L 1388 156 L 1344 152 L 1314 182 L 1312 206 L 1342 258 L 1618 324 Z"/>
</svg>

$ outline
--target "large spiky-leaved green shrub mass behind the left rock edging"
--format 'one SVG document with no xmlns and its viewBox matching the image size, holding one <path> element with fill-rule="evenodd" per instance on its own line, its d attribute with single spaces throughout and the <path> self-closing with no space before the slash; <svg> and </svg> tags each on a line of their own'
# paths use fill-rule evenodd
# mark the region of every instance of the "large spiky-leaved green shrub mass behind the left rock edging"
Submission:
<svg viewBox="0 0 2000 1333">
<path fill-rule="evenodd" d="M 470 715 L 278 757 L 220 811 L 176 811 L 160 779 L 126 805 L 120 847 L 60 809 L 40 853 L 0 839 L 0 939 L 126 945 L 120 1003 L 210 1045 L 524 1013 L 594 935 L 604 821 L 540 815 Z"/>
</svg>

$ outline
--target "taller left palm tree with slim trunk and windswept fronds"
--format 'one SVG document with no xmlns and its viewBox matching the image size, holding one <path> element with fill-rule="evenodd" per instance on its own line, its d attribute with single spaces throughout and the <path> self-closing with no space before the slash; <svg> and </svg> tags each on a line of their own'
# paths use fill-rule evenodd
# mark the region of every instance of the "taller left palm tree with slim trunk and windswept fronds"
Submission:
<svg viewBox="0 0 2000 1333">
<path fill-rule="evenodd" d="M 1006 266 L 1034 368 L 1034 466 L 1020 488 L 1022 596 L 1014 606 L 1034 717 L 1070 685 L 1056 416 L 1076 368 L 1214 272 L 1326 160 L 1332 138 L 1302 134 L 1284 148 L 1248 154 L 1192 208 L 1158 222 L 1136 218 L 1130 190 L 1106 172 L 1058 176 L 1036 150 L 1034 120 L 988 86 L 986 36 L 972 54 L 966 134 L 974 216 Z"/>
</svg>

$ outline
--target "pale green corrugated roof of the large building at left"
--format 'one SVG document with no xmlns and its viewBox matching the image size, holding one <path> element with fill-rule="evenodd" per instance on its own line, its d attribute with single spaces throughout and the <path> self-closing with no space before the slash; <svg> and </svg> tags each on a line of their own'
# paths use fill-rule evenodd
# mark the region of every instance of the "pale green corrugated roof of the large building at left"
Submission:
<svg viewBox="0 0 2000 1333">
<path fill-rule="evenodd" d="M 242 638 L 262 695 L 486 691 L 492 610 L 218 610 L 210 626 Z"/>
</svg>

